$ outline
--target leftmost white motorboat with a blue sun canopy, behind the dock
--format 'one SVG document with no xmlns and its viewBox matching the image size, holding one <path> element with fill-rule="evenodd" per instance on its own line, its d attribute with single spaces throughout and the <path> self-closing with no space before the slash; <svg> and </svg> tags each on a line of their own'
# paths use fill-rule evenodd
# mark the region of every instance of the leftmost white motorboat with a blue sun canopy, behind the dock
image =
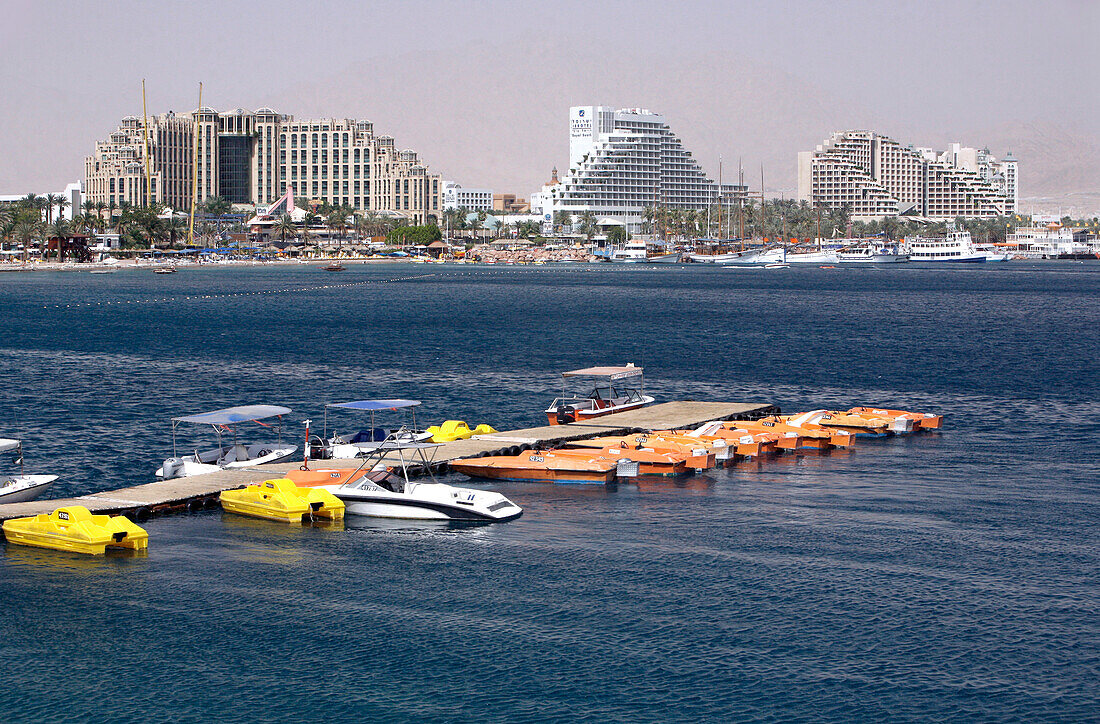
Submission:
<svg viewBox="0 0 1100 724">
<path fill-rule="evenodd" d="M 164 480 L 170 478 L 188 478 L 202 473 L 216 472 L 231 468 L 261 465 L 266 462 L 278 462 L 294 454 L 297 446 L 283 443 L 283 415 L 290 412 L 289 407 L 277 405 L 241 405 L 216 409 L 210 413 L 187 415 L 172 418 L 172 457 L 157 469 L 156 476 Z M 241 423 L 258 423 L 271 417 L 279 418 L 278 441 L 274 445 L 265 442 L 242 443 L 237 440 L 235 426 Z M 176 428 L 180 423 L 209 425 L 218 436 L 218 447 L 212 450 L 196 450 L 188 456 L 176 453 Z M 234 426 L 234 427 L 230 427 Z M 232 442 L 223 441 L 223 434 L 232 435 Z"/>
</svg>

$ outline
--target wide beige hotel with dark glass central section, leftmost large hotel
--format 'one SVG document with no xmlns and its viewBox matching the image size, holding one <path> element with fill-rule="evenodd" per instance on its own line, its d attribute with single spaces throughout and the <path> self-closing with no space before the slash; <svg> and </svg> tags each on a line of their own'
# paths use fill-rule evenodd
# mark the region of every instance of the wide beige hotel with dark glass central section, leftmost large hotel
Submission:
<svg viewBox="0 0 1100 724">
<path fill-rule="evenodd" d="M 415 223 L 438 218 L 442 208 L 440 177 L 428 173 L 415 151 L 397 149 L 393 136 L 375 135 L 370 121 L 295 121 L 270 108 L 226 113 L 200 108 L 151 117 L 147 135 L 148 188 L 146 129 L 142 119 L 128 116 L 85 161 L 89 200 L 141 205 L 151 198 L 189 209 L 197 147 L 200 204 L 220 196 L 270 205 L 293 188 L 299 197 L 391 211 Z"/>
</svg>

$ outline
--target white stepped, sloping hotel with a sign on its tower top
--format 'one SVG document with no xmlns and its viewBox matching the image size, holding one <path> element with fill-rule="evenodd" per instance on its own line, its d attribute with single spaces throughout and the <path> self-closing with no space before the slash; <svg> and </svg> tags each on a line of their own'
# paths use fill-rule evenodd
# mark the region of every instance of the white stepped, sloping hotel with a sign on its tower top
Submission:
<svg viewBox="0 0 1100 724">
<path fill-rule="evenodd" d="M 557 174 L 556 174 L 557 179 Z M 569 171 L 531 196 L 531 209 L 552 221 L 559 211 L 592 211 L 639 231 L 646 207 L 736 208 L 746 187 L 712 180 L 663 116 L 640 108 L 569 109 Z"/>
</svg>

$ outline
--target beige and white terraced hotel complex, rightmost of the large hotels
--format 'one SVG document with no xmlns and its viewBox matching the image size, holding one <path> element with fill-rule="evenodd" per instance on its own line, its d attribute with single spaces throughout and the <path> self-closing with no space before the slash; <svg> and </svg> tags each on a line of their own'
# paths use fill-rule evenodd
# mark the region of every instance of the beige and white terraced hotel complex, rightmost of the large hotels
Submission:
<svg viewBox="0 0 1100 724">
<path fill-rule="evenodd" d="M 1014 213 L 1019 162 L 953 143 L 946 151 L 904 146 L 875 131 L 838 131 L 799 153 L 799 200 L 847 205 L 854 220 Z"/>
</svg>

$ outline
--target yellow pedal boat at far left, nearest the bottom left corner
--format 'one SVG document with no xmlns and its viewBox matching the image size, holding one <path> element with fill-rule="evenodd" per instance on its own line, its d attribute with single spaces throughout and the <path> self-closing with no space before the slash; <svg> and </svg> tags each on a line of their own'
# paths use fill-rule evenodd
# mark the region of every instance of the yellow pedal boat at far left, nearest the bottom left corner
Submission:
<svg viewBox="0 0 1100 724">
<path fill-rule="evenodd" d="M 122 515 L 92 515 L 82 505 L 68 505 L 48 515 L 4 520 L 9 542 L 102 556 L 108 547 L 146 550 L 148 534 Z"/>
</svg>

